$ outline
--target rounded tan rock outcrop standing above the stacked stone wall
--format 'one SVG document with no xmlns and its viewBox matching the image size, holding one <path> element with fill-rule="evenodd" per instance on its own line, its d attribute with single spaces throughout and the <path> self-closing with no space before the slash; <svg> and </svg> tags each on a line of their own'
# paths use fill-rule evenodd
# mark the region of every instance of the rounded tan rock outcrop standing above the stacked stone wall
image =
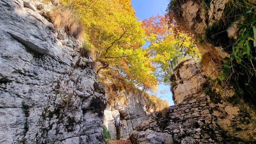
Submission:
<svg viewBox="0 0 256 144">
<path fill-rule="evenodd" d="M 180 104 L 186 99 L 196 97 L 201 90 L 204 78 L 200 72 L 200 65 L 193 59 L 181 62 L 174 69 L 172 77 L 172 91 L 175 104 Z"/>
</svg>

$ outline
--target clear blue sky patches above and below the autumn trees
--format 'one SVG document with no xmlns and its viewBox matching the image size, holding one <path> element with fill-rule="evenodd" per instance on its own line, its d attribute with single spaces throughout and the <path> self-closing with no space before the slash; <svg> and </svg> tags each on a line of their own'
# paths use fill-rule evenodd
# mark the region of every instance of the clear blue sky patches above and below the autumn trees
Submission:
<svg viewBox="0 0 256 144">
<path fill-rule="evenodd" d="M 135 15 L 139 20 L 149 19 L 151 16 L 163 15 L 170 0 L 132 0 L 131 4 L 136 11 Z M 170 86 L 159 85 L 158 91 L 168 91 L 165 94 L 158 93 L 157 96 L 167 100 L 169 105 L 174 105 Z"/>
</svg>

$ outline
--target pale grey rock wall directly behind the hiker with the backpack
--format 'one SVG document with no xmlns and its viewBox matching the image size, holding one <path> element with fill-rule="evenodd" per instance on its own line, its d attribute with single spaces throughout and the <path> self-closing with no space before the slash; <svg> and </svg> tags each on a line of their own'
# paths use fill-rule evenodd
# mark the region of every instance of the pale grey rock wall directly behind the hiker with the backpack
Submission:
<svg viewBox="0 0 256 144">
<path fill-rule="evenodd" d="M 146 114 L 146 104 L 140 93 L 130 93 L 126 91 L 117 91 L 118 101 L 107 106 L 104 111 L 104 125 L 110 131 L 111 137 L 116 138 L 115 126 L 112 121 L 120 117 L 126 130 L 121 129 L 121 138 L 128 138 L 129 133 L 135 129 L 142 121 L 148 119 Z"/>
</svg>

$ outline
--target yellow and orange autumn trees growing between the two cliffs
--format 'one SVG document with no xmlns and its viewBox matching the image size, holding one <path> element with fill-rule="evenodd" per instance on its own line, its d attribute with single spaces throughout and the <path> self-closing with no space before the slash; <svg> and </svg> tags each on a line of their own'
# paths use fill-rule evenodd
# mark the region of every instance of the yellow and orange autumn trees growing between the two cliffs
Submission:
<svg viewBox="0 0 256 144">
<path fill-rule="evenodd" d="M 83 37 L 81 55 L 92 54 L 96 72 L 104 79 L 113 80 L 114 83 L 104 83 L 109 102 L 116 101 L 118 88 L 133 85 L 154 92 L 161 82 L 170 85 L 173 69 L 181 60 L 200 57 L 191 35 L 184 31 L 174 35 L 175 25 L 168 25 L 164 16 L 138 21 L 131 0 L 56 0 L 53 3 L 56 8 L 50 18 L 54 25 L 64 28 L 69 35 Z M 148 48 L 142 48 L 145 41 L 150 42 Z M 149 108 L 162 105 L 157 104 L 162 102 L 153 95 L 145 98 Z"/>
</svg>

